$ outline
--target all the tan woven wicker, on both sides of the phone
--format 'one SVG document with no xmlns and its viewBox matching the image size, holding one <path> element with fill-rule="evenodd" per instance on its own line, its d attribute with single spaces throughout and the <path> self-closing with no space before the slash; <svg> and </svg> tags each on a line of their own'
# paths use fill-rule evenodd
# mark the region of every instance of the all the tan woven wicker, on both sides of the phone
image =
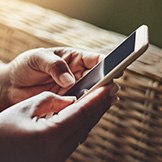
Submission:
<svg viewBox="0 0 162 162">
<path fill-rule="evenodd" d="M 0 1 L 0 57 L 36 47 L 73 46 L 107 53 L 123 36 L 19 1 Z M 120 101 L 67 162 L 162 161 L 162 50 L 150 45 L 121 79 Z"/>
</svg>

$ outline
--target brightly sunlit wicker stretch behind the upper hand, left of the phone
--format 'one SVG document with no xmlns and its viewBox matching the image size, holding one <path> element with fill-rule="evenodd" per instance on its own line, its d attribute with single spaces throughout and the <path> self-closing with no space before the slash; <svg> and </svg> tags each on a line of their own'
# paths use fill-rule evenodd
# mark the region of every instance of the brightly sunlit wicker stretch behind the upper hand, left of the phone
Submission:
<svg viewBox="0 0 162 162">
<path fill-rule="evenodd" d="M 123 40 L 54 11 L 19 1 L 6 2 L 0 1 L 0 54 L 6 61 L 36 47 L 73 46 L 97 51 L 101 47 L 112 49 Z"/>
</svg>

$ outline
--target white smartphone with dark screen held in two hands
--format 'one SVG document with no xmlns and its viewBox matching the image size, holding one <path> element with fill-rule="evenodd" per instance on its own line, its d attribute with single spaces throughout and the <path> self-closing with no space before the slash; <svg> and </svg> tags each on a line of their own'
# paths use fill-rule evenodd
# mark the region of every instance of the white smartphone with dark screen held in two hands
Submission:
<svg viewBox="0 0 162 162">
<path fill-rule="evenodd" d="M 94 89 L 107 84 L 142 55 L 148 44 L 148 27 L 142 25 L 83 76 L 65 95 L 81 99 Z"/>
</svg>

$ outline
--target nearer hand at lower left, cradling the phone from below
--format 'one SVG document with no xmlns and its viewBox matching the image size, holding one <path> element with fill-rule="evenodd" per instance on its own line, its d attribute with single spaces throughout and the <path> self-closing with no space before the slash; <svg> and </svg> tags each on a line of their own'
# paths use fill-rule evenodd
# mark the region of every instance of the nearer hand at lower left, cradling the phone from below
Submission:
<svg viewBox="0 0 162 162">
<path fill-rule="evenodd" d="M 75 103 L 73 99 L 44 92 L 2 111 L 1 160 L 66 160 L 78 144 L 84 142 L 108 108 L 117 101 L 117 90 L 118 86 L 110 83 Z M 49 119 L 43 118 L 51 111 L 58 114 Z"/>
</svg>

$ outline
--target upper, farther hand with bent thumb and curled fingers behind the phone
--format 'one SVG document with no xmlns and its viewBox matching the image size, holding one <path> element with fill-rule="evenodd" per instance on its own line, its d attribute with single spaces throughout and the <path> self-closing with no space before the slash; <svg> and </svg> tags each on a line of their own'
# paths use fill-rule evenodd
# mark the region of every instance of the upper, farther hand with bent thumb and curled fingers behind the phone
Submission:
<svg viewBox="0 0 162 162">
<path fill-rule="evenodd" d="M 100 54 L 73 48 L 40 48 L 24 52 L 5 66 L 0 109 L 43 91 L 63 95 L 101 59 Z"/>
</svg>

